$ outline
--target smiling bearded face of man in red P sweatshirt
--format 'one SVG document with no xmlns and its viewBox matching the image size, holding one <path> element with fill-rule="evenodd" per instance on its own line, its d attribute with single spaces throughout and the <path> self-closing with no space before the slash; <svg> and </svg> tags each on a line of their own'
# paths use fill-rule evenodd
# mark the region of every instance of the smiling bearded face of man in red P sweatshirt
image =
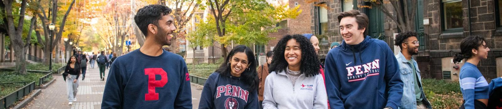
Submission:
<svg viewBox="0 0 502 109">
<path fill-rule="evenodd" d="M 162 16 L 162 19 L 159 20 L 157 31 L 153 32 L 155 41 L 161 45 L 171 45 L 171 35 L 175 30 L 176 27 L 174 27 L 173 24 L 173 17 L 170 15 Z"/>
</svg>

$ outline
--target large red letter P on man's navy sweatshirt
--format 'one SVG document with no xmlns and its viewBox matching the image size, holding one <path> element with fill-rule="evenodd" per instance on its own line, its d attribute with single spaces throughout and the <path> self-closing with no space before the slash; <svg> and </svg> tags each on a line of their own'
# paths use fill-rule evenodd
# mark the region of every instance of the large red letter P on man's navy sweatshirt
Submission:
<svg viewBox="0 0 502 109">
<path fill-rule="evenodd" d="M 155 88 L 166 85 L 167 72 L 162 68 L 148 68 L 145 69 L 145 75 L 148 75 L 148 93 L 145 94 L 145 101 L 159 100 L 159 93 L 155 93 Z M 155 80 L 155 75 L 160 75 L 160 80 Z"/>
</svg>

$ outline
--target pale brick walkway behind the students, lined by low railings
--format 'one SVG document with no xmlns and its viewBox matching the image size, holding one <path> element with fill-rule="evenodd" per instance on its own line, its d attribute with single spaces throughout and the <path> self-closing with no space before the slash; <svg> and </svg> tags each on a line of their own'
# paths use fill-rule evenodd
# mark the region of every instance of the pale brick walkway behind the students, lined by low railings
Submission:
<svg viewBox="0 0 502 109">
<path fill-rule="evenodd" d="M 105 71 L 105 74 L 108 70 Z M 55 83 L 42 90 L 42 93 L 23 109 L 101 109 L 101 100 L 105 81 L 99 79 L 97 65 L 94 69 L 87 67 L 86 78 L 78 87 L 77 102 L 68 105 L 66 83 L 61 75 L 54 75 Z M 193 109 L 197 109 L 202 87 L 192 84 Z"/>
</svg>

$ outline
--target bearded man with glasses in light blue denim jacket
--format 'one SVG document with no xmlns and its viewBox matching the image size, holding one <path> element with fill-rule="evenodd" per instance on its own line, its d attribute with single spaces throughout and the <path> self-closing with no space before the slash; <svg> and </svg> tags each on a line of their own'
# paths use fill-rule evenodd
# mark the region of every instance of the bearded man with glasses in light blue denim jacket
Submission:
<svg viewBox="0 0 502 109">
<path fill-rule="evenodd" d="M 422 89 L 417 61 L 412 57 L 418 54 L 417 33 L 412 31 L 399 33 L 394 41 L 394 44 L 401 48 L 396 58 L 401 70 L 401 80 L 404 83 L 403 98 L 401 98 L 399 109 L 432 109 Z"/>
</svg>

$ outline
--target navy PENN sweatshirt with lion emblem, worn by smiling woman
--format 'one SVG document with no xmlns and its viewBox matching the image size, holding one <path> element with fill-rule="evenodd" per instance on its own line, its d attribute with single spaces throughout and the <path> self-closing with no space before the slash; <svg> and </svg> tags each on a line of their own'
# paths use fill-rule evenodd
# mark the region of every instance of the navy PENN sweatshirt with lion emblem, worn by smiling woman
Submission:
<svg viewBox="0 0 502 109">
<path fill-rule="evenodd" d="M 199 109 L 258 109 L 258 104 L 257 90 L 249 90 L 240 77 L 214 72 L 204 84 Z"/>
</svg>

